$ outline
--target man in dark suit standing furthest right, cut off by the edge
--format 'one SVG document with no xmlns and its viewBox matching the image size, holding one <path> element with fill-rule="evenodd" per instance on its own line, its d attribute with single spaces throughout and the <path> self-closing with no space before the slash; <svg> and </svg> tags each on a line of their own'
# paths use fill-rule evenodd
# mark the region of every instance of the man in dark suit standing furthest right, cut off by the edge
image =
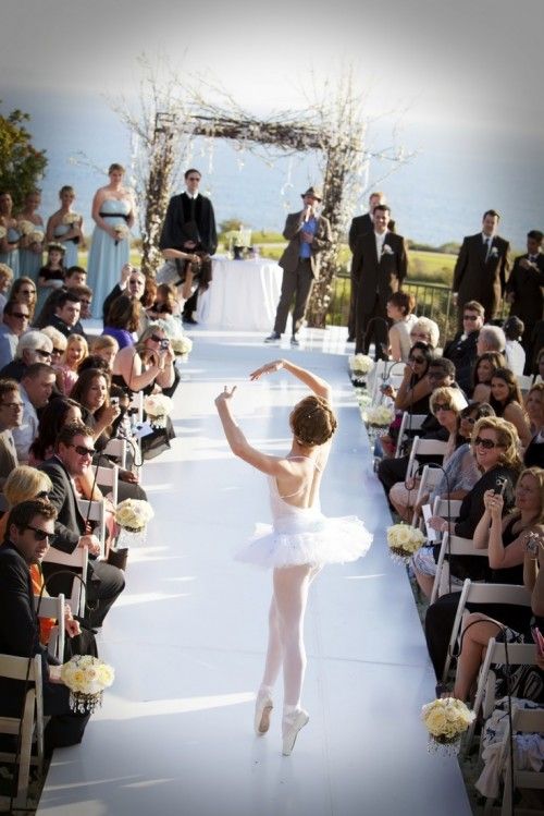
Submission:
<svg viewBox="0 0 544 816">
<path fill-rule="evenodd" d="M 544 233 L 531 230 L 527 233 L 527 253 L 514 261 L 506 284 L 506 300 L 510 303 L 510 316 L 523 321 L 521 345 L 526 351 L 524 374 L 532 373 L 532 362 L 539 349 L 532 346 L 533 330 L 544 317 Z"/>
</svg>

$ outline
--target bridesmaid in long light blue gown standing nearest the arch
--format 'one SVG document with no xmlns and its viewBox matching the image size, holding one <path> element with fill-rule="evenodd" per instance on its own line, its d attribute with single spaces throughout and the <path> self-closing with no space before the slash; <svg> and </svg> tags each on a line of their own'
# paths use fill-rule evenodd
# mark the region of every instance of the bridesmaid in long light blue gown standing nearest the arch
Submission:
<svg viewBox="0 0 544 816">
<path fill-rule="evenodd" d="M 128 230 L 135 220 L 133 194 L 123 186 L 125 169 L 111 165 L 110 183 L 97 190 L 92 199 L 96 222 L 87 266 L 87 284 L 94 291 L 94 317 L 101 317 L 102 303 L 119 282 L 121 270 L 128 263 Z M 125 234 L 123 234 L 125 233 Z"/>
</svg>

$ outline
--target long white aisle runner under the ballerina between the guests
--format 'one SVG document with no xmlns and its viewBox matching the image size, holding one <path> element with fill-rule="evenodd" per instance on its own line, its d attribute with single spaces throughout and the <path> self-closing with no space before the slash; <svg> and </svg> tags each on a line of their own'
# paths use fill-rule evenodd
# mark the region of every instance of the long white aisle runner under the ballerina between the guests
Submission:
<svg viewBox="0 0 544 816">
<path fill-rule="evenodd" d="M 176 394 L 173 448 L 145 465 L 154 507 L 133 549 L 127 588 L 100 635 L 116 670 L 81 746 L 54 754 L 39 814 L 59 816 L 420 816 L 470 814 L 454 759 L 429 755 L 419 720 L 433 673 L 404 570 L 386 555 L 391 521 L 370 470 L 346 357 L 292 352 L 335 387 L 339 429 L 322 485 L 326 514 L 360 515 L 367 558 L 312 586 L 302 704 L 310 722 L 281 755 L 281 687 L 265 738 L 252 733 L 270 575 L 233 561 L 268 522 L 265 477 L 227 450 L 213 399 L 237 383 L 248 438 L 288 450 L 288 412 L 305 393 L 282 373 L 247 375 L 277 350 L 195 337 Z"/>
</svg>

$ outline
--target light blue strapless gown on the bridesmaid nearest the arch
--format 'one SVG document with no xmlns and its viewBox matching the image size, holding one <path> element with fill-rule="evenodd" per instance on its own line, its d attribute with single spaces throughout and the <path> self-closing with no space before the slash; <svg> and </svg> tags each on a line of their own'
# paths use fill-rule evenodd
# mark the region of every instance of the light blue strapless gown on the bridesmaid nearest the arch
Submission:
<svg viewBox="0 0 544 816">
<path fill-rule="evenodd" d="M 111 227 L 116 223 L 126 223 L 122 216 L 127 216 L 129 211 L 131 203 L 119 202 L 116 198 L 106 198 L 100 207 L 100 212 L 109 214 L 104 221 L 108 221 Z M 102 316 L 102 303 L 115 283 L 119 283 L 121 270 L 128 263 L 129 249 L 128 239 L 115 242 L 100 227 L 95 227 L 87 265 L 87 285 L 94 293 L 92 317 Z"/>
</svg>

